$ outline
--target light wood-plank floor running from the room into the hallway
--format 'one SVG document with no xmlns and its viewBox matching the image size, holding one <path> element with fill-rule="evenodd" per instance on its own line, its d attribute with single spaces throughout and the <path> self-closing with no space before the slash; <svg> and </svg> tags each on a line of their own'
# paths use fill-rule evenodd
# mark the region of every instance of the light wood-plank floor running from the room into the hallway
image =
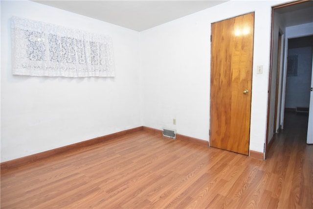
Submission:
<svg viewBox="0 0 313 209">
<path fill-rule="evenodd" d="M 266 161 L 139 131 L 1 173 L 1 208 L 313 208 L 307 116 Z"/>
</svg>

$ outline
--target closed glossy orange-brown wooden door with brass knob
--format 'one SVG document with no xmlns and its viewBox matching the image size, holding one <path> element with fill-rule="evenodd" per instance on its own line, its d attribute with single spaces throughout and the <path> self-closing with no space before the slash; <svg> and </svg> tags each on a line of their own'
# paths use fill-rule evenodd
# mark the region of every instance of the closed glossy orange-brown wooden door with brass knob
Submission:
<svg viewBox="0 0 313 209">
<path fill-rule="evenodd" d="M 249 154 L 254 13 L 212 23 L 210 146 Z"/>
</svg>

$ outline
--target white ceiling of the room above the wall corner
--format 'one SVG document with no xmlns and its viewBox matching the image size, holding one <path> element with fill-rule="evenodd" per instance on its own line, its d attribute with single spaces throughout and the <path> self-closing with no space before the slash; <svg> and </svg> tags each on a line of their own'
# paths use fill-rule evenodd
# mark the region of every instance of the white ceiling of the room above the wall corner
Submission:
<svg viewBox="0 0 313 209">
<path fill-rule="evenodd" d="M 146 30 L 224 3 L 227 0 L 33 0 L 73 13 Z"/>
</svg>

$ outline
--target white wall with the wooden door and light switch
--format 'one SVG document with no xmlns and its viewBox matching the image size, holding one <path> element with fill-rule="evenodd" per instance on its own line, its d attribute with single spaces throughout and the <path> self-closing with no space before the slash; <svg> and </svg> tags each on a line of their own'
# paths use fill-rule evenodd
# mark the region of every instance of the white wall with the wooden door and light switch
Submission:
<svg viewBox="0 0 313 209">
<path fill-rule="evenodd" d="M 179 134 L 209 140 L 211 23 L 255 12 L 249 146 L 263 152 L 271 6 L 282 2 L 286 1 L 228 1 L 141 32 L 144 125 L 175 128 Z M 259 65 L 263 74 L 256 74 Z"/>
</svg>

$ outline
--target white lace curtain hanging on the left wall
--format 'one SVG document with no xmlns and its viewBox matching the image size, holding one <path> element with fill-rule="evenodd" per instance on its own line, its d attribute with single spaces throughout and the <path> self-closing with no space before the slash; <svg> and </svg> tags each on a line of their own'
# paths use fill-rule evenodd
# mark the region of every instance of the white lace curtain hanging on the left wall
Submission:
<svg viewBox="0 0 313 209">
<path fill-rule="evenodd" d="M 110 37 L 18 17 L 11 33 L 15 75 L 114 76 Z"/>
</svg>

